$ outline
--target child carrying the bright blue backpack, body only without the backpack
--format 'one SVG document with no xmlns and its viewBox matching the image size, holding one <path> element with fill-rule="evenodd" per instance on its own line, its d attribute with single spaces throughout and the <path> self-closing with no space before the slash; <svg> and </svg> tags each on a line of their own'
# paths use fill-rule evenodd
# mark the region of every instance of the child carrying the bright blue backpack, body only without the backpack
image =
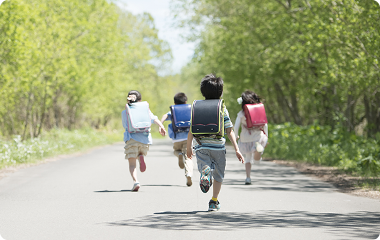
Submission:
<svg viewBox="0 0 380 240">
<path fill-rule="evenodd" d="M 180 104 L 186 104 L 187 103 L 187 96 L 185 93 L 177 93 L 174 95 L 174 104 L 180 105 Z M 190 116 L 190 109 L 189 109 L 189 116 Z M 164 121 L 172 121 L 172 113 L 169 111 L 168 113 L 164 114 L 161 118 L 161 122 Z M 174 149 L 174 155 L 178 158 L 178 166 L 181 169 L 185 169 L 185 177 L 186 177 L 186 185 L 191 186 L 193 183 L 191 181 L 191 177 L 193 175 L 193 161 L 186 156 L 186 147 L 187 147 L 187 135 L 189 133 L 189 129 L 174 132 L 173 131 L 173 125 L 168 125 L 168 133 L 169 137 L 173 141 L 173 149 Z"/>
</svg>

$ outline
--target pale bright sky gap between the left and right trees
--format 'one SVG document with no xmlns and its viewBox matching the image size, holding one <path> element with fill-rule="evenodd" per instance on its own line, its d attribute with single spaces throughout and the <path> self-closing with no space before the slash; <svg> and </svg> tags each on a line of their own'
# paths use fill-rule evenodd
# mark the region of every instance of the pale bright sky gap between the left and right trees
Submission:
<svg viewBox="0 0 380 240">
<path fill-rule="evenodd" d="M 180 34 L 185 30 L 172 26 L 173 19 L 170 16 L 171 0 L 119 0 L 126 5 L 126 9 L 133 14 L 148 12 L 154 18 L 158 29 L 158 37 L 169 43 L 173 55 L 171 70 L 166 73 L 176 74 L 190 61 L 193 56 L 195 44 L 187 43 L 181 39 Z"/>
</svg>

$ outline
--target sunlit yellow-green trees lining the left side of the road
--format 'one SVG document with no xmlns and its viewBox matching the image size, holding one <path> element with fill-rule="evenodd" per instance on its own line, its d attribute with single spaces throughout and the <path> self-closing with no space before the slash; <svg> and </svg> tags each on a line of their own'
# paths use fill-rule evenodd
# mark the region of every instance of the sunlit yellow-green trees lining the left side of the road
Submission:
<svg viewBox="0 0 380 240">
<path fill-rule="evenodd" d="M 149 14 L 135 16 L 108 1 L 2 0 L 0 29 L 3 137 L 119 123 L 132 89 L 153 110 L 172 101 L 160 87 L 172 77 L 157 74 L 171 51 Z"/>
</svg>

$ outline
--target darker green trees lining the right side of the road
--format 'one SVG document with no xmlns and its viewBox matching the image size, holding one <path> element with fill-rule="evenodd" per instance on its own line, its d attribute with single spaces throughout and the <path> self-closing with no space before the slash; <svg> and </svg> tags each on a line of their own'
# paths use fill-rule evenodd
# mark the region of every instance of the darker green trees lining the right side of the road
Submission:
<svg viewBox="0 0 380 240">
<path fill-rule="evenodd" d="M 270 122 L 380 132 L 380 3 L 374 0 L 179 0 L 196 60 L 226 80 L 229 104 L 246 88 Z M 363 132 L 364 130 L 364 132 Z"/>
</svg>

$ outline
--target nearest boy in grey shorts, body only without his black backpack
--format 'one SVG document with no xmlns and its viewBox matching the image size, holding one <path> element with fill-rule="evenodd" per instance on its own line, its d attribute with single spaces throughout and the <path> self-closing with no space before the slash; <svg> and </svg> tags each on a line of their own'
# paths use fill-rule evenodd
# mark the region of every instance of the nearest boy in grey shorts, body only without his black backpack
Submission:
<svg viewBox="0 0 380 240">
<path fill-rule="evenodd" d="M 220 99 L 223 94 L 223 79 L 215 77 L 213 74 L 208 74 L 202 79 L 200 90 L 206 100 Z M 232 130 L 232 122 L 228 115 L 228 110 L 225 106 L 223 106 L 223 108 L 224 128 L 227 132 L 227 136 L 235 148 L 236 157 L 239 161 L 244 163 L 243 155 L 239 151 L 235 134 Z M 201 173 L 200 187 L 202 192 L 208 192 L 212 185 L 212 177 L 214 178 L 212 198 L 209 202 L 208 210 L 218 211 L 220 209 L 218 195 L 222 188 L 226 167 L 226 140 L 224 137 L 213 138 L 211 136 L 196 138 L 196 140 L 197 143 L 194 145 L 194 150 L 197 157 L 198 170 Z M 192 141 L 193 135 L 189 132 L 187 137 L 187 157 L 190 159 L 192 158 Z"/>
</svg>

